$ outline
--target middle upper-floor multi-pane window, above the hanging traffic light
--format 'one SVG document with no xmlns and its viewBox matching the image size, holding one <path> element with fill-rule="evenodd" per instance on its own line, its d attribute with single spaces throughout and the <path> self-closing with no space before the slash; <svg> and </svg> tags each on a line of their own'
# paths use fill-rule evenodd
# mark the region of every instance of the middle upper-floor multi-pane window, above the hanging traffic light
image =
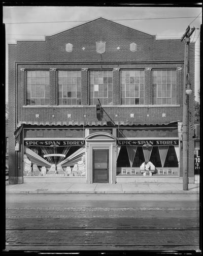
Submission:
<svg viewBox="0 0 203 256">
<path fill-rule="evenodd" d="M 112 71 L 90 71 L 90 104 L 112 105 Z"/>
</svg>

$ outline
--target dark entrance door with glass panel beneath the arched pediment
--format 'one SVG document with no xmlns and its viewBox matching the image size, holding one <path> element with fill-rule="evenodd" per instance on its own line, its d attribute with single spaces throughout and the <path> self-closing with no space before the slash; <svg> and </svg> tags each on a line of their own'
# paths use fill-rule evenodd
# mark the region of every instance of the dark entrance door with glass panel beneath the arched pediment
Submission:
<svg viewBox="0 0 203 256">
<path fill-rule="evenodd" d="M 93 182 L 109 182 L 109 150 L 93 149 Z"/>
</svg>

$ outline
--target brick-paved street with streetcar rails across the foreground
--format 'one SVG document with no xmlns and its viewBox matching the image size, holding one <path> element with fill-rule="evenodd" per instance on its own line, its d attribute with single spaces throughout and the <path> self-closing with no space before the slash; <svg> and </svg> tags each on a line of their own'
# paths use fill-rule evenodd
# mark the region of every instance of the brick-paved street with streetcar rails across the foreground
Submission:
<svg viewBox="0 0 203 256">
<path fill-rule="evenodd" d="M 45 249 L 47 247 L 50 247 L 50 249 L 54 247 L 57 247 L 57 249 L 62 249 L 62 247 L 66 247 L 66 249 L 77 247 L 81 247 L 82 249 L 87 249 L 87 247 L 92 247 L 93 249 L 96 249 L 96 247 L 107 247 L 107 249 L 108 247 L 113 249 L 122 247 L 123 249 L 129 249 L 131 247 L 131 249 L 138 249 L 148 247 L 150 250 L 156 247 L 165 247 L 166 250 L 174 247 L 176 249 L 180 249 L 181 247 L 182 249 L 188 247 L 199 248 L 199 224 L 197 221 L 193 221 L 199 211 L 196 205 L 189 205 L 191 207 L 174 205 L 175 207 L 173 207 L 173 205 L 166 204 L 160 205 L 162 207 L 158 207 L 159 205 L 155 205 L 154 207 L 153 205 L 149 205 L 148 207 L 145 204 L 144 206 L 133 204 L 130 207 L 126 207 L 125 205 L 120 205 L 121 207 L 113 205 L 115 207 L 111 207 L 111 205 L 106 204 L 104 205 L 106 207 L 100 207 L 100 205 L 92 204 L 88 206 L 84 206 L 84 204 L 82 206 L 63 204 L 63 207 L 49 207 L 52 205 L 32 207 L 32 205 L 25 205 L 26 207 L 23 208 L 22 205 L 18 204 L 11 205 L 11 208 L 9 208 L 9 205 L 7 206 L 6 219 L 8 225 L 6 227 L 6 234 L 8 239 L 6 247 L 8 250 L 19 250 L 21 247 L 23 249 L 30 247 L 34 249 Z M 144 214 L 145 211 L 146 214 Z M 172 215 L 173 211 L 174 213 Z M 91 212 L 92 214 L 90 214 Z M 123 214 L 125 212 L 126 214 Z M 136 218 L 134 215 L 138 216 L 139 220 L 131 222 L 131 218 Z M 155 219 L 154 224 L 149 222 L 149 220 L 143 222 L 146 216 L 149 218 L 148 215 L 150 215 L 152 220 Z M 174 223 L 170 224 L 171 222 L 168 219 L 166 222 L 163 222 L 162 215 L 164 215 L 164 218 L 168 218 L 169 216 L 175 218 L 176 216 Z M 180 222 L 182 215 L 186 219 Z M 81 216 L 81 221 L 78 221 L 78 218 L 81 218 Z M 98 218 L 98 221 L 101 217 L 108 218 L 110 221 L 115 217 L 121 220 L 119 222 L 115 220 L 111 225 L 108 225 L 109 221 L 101 218 L 102 221 L 98 223 L 95 217 Z M 27 218 L 33 219 L 28 223 Z M 46 218 L 46 221 L 43 222 L 42 220 L 44 218 Z M 53 219 L 53 224 L 49 223 L 49 218 L 50 220 Z M 61 218 L 61 220 L 56 221 L 57 218 Z M 74 222 L 74 218 L 76 222 Z M 84 218 L 87 218 L 87 220 L 82 222 Z M 89 218 L 93 219 L 94 222 L 89 222 Z M 123 218 L 127 220 L 122 222 L 124 224 L 120 224 Z M 161 224 L 158 222 L 158 219 L 160 219 Z M 152 241 L 153 237 L 156 237 L 154 242 Z M 147 240 L 145 241 L 145 239 Z M 121 243 L 119 243 L 119 240 Z"/>
</svg>

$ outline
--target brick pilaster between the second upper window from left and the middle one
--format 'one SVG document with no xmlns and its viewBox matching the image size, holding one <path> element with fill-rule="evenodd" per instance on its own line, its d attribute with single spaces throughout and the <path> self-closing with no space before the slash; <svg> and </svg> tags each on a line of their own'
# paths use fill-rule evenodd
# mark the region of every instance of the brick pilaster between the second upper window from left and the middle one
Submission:
<svg viewBox="0 0 203 256">
<path fill-rule="evenodd" d="M 81 69 L 81 105 L 89 104 L 88 69 Z"/>
</svg>

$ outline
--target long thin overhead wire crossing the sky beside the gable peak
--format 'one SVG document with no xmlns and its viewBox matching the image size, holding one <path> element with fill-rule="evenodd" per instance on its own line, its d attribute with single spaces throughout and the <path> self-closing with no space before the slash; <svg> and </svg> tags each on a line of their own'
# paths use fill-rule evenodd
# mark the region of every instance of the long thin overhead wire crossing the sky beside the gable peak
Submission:
<svg viewBox="0 0 203 256">
<path fill-rule="evenodd" d="M 111 19 L 111 21 L 118 21 L 118 20 L 151 20 L 151 19 L 188 19 L 188 18 L 201 18 L 201 17 L 163 17 L 163 18 L 138 18 L 138 19 Z M 194 19 L 194 20 L 195 20 Z M 193 21 L 194 21 L 193 20 Z M 192 21 L 192 22 L 193 22 Z M 69 20 L 69 21 L 35 21 L 35 22 L 5 22 L 5 24 L 30 24 L 30 23 L 63 23 L 63 22 L 89 22 L 89 20 Z M 191 22 L 191 23 L 192 23 Z M 190 24 L 191 24 L 190 23 Z"/>
</svg>

